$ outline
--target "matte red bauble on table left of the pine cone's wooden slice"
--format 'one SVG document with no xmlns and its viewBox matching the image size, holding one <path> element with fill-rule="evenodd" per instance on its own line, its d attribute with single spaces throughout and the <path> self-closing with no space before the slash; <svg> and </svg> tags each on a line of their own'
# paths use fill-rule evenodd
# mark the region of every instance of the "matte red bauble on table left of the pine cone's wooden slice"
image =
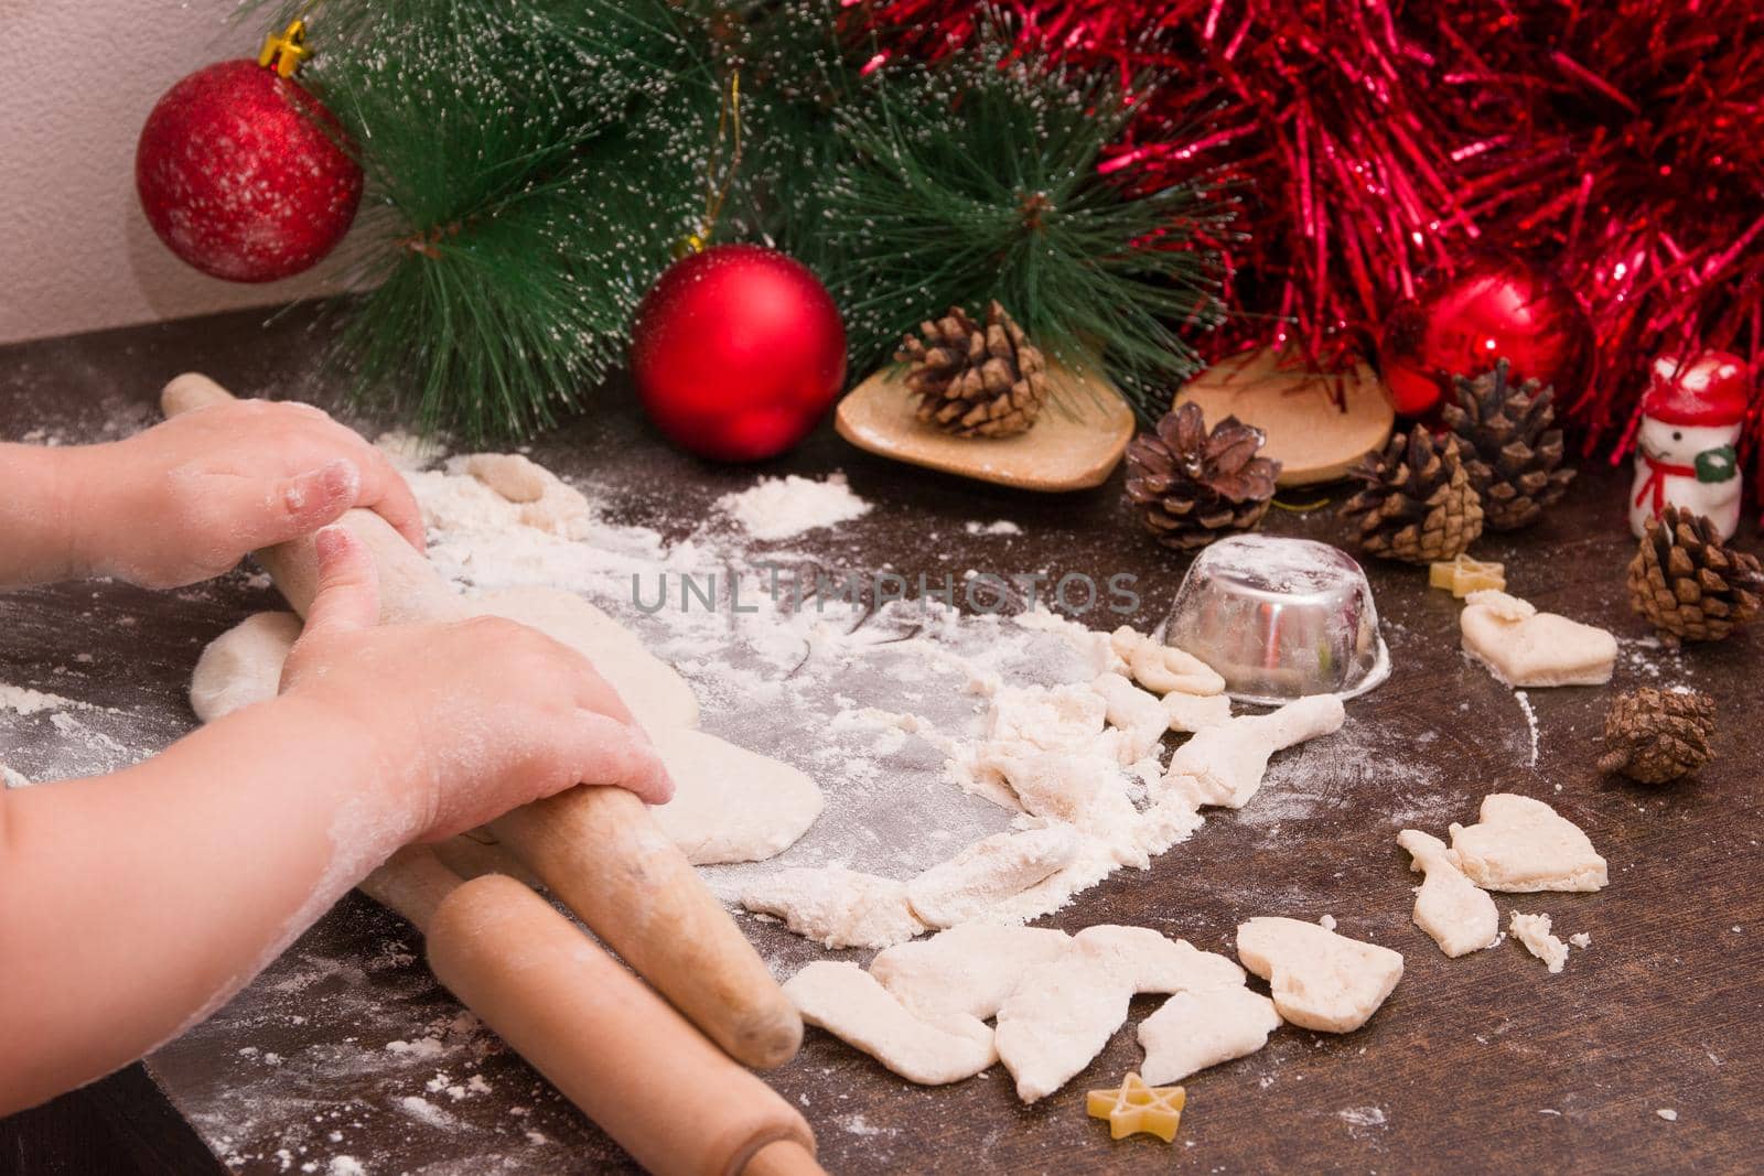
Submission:
<svg viewBox="0 0 1764 1176">
<path fill-rule="evenodd" d="M 845 384 L 845 324 L 808 266 L 759 245 L 676 261 L 644 296 L 632 377 L 670 441 L 751 462 L 801 441 Z"/>
</svg>

